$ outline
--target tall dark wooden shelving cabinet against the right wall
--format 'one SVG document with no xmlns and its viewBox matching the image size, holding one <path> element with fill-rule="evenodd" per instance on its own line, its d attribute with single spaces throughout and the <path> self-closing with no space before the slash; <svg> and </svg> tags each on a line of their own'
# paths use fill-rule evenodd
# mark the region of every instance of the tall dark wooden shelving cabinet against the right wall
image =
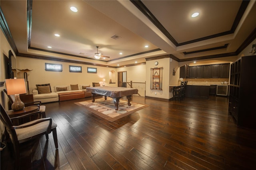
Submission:
<svg viewBox="0 0 256 170">
<path fill-rule="evenodd" d="M 241 57 L 231 64 L 228 111 L 237 125 L 256 128 L 256 55 Z"/>
</svg>

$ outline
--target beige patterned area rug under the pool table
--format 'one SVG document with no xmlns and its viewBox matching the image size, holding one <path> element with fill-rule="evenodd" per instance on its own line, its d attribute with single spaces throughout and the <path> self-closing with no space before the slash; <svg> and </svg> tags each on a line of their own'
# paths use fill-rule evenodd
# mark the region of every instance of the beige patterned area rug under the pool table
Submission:
<svg viewBox="0 0 256 170">
<path fill-rule="evenodd" d="M 91 101 L 84 101 L 76 102 L 74 104 L 82 106 L 92 111 L 96 115 L 99 115 L 100 117 L 103 117 L 104 119 L 107 119 L 109 121 L 115 121 L 117 119 L 120 119 L 121 117 L 130 115 L 135 111 L 149 106 L 146 104 L 138 104 L 132 101 L 130 102 L 130 104 L 132 105 L 128 106 L 127 100 L 120 99 L 118 110 L 116 111 L 113 99 L 109 97 L 107 98 L 107 100 L 105 100 L 104 98 L 95 99 L 94 103 L 92 103 Z"/>
</svg>

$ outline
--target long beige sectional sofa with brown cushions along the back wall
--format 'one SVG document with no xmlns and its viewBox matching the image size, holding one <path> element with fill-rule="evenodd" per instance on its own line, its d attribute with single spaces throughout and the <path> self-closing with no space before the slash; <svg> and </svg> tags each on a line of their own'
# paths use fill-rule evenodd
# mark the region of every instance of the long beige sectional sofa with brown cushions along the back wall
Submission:
<svg viewBox="0 0 256 170">
<path fill-rule="evenodd" d="M 86 92 L 86 87 L 90 85 L 58 85 L 51 89 L 50 84 L 39 84 L 32 90 L 34 101 L 42 103 L 73 100 L 92 96 L 91 92 Z"/>
</svg>

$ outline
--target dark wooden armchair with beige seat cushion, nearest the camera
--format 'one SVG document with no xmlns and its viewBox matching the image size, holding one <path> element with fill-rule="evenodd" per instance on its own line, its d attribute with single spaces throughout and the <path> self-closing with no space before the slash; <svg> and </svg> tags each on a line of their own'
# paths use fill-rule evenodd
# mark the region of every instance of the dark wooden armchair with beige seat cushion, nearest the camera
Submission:
<svg viewBox="0 0 256 170">
<path fill-rule="evenodd" d="M 16 119 L 24 118 L 27 116 L 31 116 L 33 114 L 38 114 L 38 112 L 28 113 L 26 115 L 22 115 L 16 117 Z M 12 121 L 4 108 L 1 105 L 1 121 L 4 123 L 8 134 L 10 135 L 10 139 L 13 144 L 14 152 L 15 152 L 15 167 L 16 169 L 20 166 L 20 143 L 29 141 L 31 139 L 39 138 L 42 135 L 46 135 L 46 140 L 48 140 L 48 134 L 52 132 L 55 148 L 58 148 L 58 139 L 56 132 L 56 123 L 52 122 L 51 118 L 41 118 L 36 119 L 34 121 L 30 121 L 28 123 L 24 123 L 18 126 L 14 126 Z M 14 120 L 15 118 L 12 118 Z"/>
</svg>

